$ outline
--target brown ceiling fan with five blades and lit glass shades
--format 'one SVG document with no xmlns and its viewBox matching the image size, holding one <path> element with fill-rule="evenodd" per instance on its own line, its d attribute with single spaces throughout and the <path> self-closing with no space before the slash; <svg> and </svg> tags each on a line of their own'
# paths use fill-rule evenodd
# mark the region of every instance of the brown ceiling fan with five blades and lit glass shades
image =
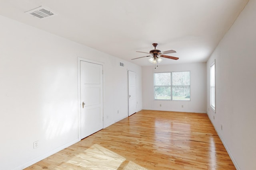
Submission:
<svg viewBox="0 0 256 170">
<path fill-rule="evenodd" d="M 158 45 L 158 43 L 153 43 L 152 45 L 155 47 L 155 49 L 150 50 L 149 53 L 141 52 L 141 51 L 136 51 L 136 52 L 150 54 L 148 56 L 143 56 L 143 57 L 150 57 L 150 59 L 148 59 L 148 61 L 150 63 L 153 63 L 153 64 L 161 63 L 162 59 L 160 57 L 164 57 L 164 58 L 167 58 L 167 59 L 173 59 L 173 60 L 178 60 L 179 59 L 178 57 L 172 57 L 172 56 L 164 55 L 164 54 L 176 53 L 176 51 L 168 50 L 168 51 L 161 52 L 160 50 L 156 49 L 156 46 Z M 135 59 L 140 59 L 140 58 L 143 58 L 143 57 L 138 57 L 138 58 L 135 58 Z M 134 59 L 132 59 L 132 60 L 134 60 Z"/>
</svg>

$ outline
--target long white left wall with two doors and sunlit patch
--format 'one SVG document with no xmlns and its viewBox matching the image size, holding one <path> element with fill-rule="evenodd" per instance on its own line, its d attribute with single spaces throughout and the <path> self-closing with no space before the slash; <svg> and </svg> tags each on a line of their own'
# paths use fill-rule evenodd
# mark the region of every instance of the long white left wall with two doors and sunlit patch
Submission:
<svg viewBox="0 0 256 170">
<path fill-rule="evenodd" d="M 104 63 L 104 127 L 128 115 L 127 70 L 137 73 L 142 109 L 140 66 L 2 16 L 0 23 L 1 170 L 25 168 L 79 140 L 78 57 Z"/>
</svg>

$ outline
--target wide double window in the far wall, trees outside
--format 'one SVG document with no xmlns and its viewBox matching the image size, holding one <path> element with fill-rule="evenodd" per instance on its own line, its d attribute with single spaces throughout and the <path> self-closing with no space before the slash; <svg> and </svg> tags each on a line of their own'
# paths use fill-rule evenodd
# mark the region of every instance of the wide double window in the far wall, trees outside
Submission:
<svg viewBox="0 0 256 170">
<path fill-rule="evenodd" d="M 190 100 L 190 72 L 154 73 L 155 100 Z"/>
</svg>

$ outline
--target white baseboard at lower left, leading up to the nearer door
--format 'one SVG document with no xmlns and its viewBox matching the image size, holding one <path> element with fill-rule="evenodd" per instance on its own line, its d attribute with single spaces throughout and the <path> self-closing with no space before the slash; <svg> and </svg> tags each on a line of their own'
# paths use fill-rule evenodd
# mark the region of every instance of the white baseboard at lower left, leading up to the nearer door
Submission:
<svg viewBox="0 0 256 170">
<path fill-rule="evenodd" d="M 67 148 L 67 147 L 70 147 L 71 145 L 73 145 L 73 144 L 75 144 L 75 143 L 77 143 L 79 141 L 80 141 L 79 139 L 71 141 L 71 142 L 69 142 L 69 143 L 67 143 L 65 145 L 62 145 L 61 147 L 58 147 L 58 148 L 56 148 L 56 149 L 54 149 L 54 150 L 52 150 L 52 151 L 50 151 L 50 152 L 48 152 L 46 154 L 38 156 L 37 158 L 34 158 L 33 160 L 30 160 L 29 162 L 26 162 L 25 164 L 22 164 L 22 165 L 20 165 L 20 166 L 18 166 L 16 168 L 14 168 L 13 170 L 22 170 L 24 168 L 27 168 L 28 166 L 31 166 L 31 165 L 35 164 L 36 162 L 39 162 L 40 160 L 43 160 L 43 159 L 47 158 L 48 156 L 51 156 L 51 155 L 59 152 L 60 150 L 63 150 L 65 148 Z"/>
</svg>

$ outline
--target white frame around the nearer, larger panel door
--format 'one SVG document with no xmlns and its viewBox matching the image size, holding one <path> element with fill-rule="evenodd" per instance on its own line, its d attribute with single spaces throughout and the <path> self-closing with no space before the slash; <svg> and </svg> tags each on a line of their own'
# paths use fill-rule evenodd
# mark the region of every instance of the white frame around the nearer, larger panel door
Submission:
<svg viewBox="0 0 256 170">
<path fill-rule="evenodd" d="M 104 63 L 102 62 L 99 62 L 99 61 L 93 61 L 93 60 L 89 60 L 89 59 L 84 59 L 84 58 L 81 58 L 81 57 L 78 57 L 77 59 L 77 80 L 78 80 L 78 139 L 79 141 L 81 140 L 81 86 L 80 86 L 80 83 L 81 83 L 81 80 L 80 80 L 80 61 L 85 61 L 85 62 L 88 62 L 88 63 L 92 63 L 92 64 L 100 64 L 102 65 L 102 71 L 104 70 Z M 104 73 L 104 71 L 103 71 Z M 102 73 L 102 74 L 103 74 Z M 102 89 L 102 96 L 103 96 L 103 101 L 102 101 L 102 109 L 103 109 L 103 121 L 102 121 L 102 124 L 103 124 L 103 128 L 104 128 L 104 74 L 102 75 L 102 86 L 103 86 L 103 89 Z"/>
</svg>

